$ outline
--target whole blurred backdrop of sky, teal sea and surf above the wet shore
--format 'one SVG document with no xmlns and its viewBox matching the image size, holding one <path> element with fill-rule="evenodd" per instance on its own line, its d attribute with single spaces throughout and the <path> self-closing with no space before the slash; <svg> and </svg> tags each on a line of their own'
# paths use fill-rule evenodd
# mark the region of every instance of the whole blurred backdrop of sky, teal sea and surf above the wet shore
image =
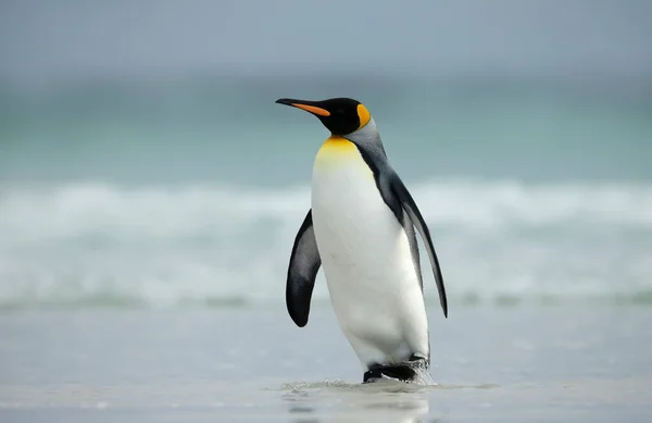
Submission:
<svg viewBox="0 0 652 423">
<path fill-rule="evenodd" d="M 0 5 L 0 308 L 283 303 L 327 134 L 274 101 L 340 96 L 453 304 L 652 302 L 650 2 L 36 3 Z"/>
</svg>

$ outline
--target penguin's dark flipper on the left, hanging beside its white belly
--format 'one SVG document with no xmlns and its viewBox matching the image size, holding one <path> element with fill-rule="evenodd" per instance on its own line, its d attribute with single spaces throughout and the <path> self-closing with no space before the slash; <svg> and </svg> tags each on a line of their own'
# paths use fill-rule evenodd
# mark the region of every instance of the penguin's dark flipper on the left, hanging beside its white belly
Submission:
<svg viewBox="0 0 652 423">
<path fill-rule="evenodd" d="M 288 313 L 299 327 L 308 324 L 310 300 L 321 265 L 322 259 L 317 250 L 311 209 L 294 238 L 286 284 Z"/>
</svg>

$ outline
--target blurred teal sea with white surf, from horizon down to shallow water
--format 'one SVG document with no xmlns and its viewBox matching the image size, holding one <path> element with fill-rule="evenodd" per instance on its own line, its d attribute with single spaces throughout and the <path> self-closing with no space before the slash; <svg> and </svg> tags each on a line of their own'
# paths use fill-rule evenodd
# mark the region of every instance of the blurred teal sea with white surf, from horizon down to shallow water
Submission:
<svg viewBox="0 0 652 423">
<path fill-rule="evenodd" d="M 651 92 L 595 77 L 5 85 L 0 307 L 281 302 L 327 134 L 274 101 L 339 95 L 374 114 L 453 302 L 649 303 Z"/>
</svg>

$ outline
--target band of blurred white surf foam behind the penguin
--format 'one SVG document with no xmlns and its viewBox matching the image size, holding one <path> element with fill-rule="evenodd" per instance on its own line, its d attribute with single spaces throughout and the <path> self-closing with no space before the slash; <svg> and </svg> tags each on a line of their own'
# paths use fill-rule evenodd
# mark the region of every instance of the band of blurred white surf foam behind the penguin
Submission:
<svg viewBox="0 0 652 423">
<path fill-rule="evenodd" d="M 652 185 L 408 185 L 453 302 L 652 300 Z M 4 186 L 0 304 L 280 303 L 309 208 L 308 186 Z M 322 274 L 314 298 L 328 298 Z"/>
</svg>

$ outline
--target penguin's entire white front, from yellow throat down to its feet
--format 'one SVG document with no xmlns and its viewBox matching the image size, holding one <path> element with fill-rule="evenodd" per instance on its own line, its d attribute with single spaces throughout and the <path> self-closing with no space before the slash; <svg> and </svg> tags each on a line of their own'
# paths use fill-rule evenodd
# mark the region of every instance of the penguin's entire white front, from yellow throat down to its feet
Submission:
<svg viewBox="0 0 652 423">
<path fill-rule="evenodd" d="M 428 357 L 428 322 L 408 236 L 358 149 L 333 142 L 315 159 L 312 216 L 339 324 L 363 366 Z"/>
</svg>

